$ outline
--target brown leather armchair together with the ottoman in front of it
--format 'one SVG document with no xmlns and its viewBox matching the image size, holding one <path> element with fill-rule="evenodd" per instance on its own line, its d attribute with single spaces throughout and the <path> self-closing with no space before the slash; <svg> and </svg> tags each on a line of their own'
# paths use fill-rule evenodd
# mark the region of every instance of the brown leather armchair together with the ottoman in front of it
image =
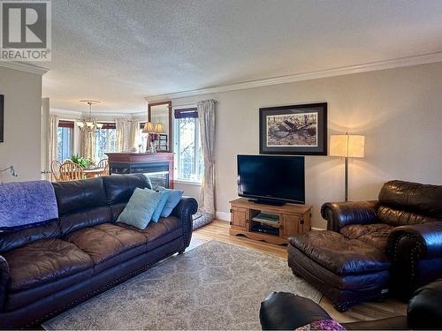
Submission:
<svg viewBox="0 0 442 331">
<path fill-rule="evenodd" d="M 288 264 L 340 311 L 442 276 L 442 186 L 385 183 L 376 201 L 325 203 L 327 230 L 289 239 Z"/>
</svg>

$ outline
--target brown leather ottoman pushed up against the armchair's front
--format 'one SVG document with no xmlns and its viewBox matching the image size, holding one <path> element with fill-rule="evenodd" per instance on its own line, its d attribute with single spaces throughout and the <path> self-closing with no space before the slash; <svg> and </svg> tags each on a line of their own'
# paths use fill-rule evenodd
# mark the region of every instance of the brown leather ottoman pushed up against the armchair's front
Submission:
<svg viewBox="0 0 442 331">
<path fill-rule="evenodd" d="M 288 265 L 331 299 L 339 311 L 383 297 L 390 261 L 385 253 L 361 240 L 333 231 L 314 231 L 289 238 Z"/>
</svg>

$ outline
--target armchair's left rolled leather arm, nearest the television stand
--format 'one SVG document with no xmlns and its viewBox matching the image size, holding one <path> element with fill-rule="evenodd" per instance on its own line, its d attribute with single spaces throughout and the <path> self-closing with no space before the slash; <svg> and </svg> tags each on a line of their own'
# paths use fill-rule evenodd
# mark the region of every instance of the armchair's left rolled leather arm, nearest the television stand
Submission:
<svg viewBox="0 0 442 331">
<path fill-rule="evenodd" d="M 350 224 L 377 223 L 377 200 L 326 202 L 321 207 L 321 215 L 327 221 L 327 229 L 338 232 Z"/>
</svg>

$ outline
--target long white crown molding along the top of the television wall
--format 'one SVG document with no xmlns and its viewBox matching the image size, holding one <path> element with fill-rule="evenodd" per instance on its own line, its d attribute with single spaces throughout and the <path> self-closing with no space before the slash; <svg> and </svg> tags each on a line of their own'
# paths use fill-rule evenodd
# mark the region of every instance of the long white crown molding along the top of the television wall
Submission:
<svg viewBox="0 0 442 331">
<path fill-rule="evenodd" d="M 266 87 L 277 84 L 293 83 L 302 80 L 324 79 L 335 76 L 349 75 L 353 73 L 400 68 L 400 67 L 418 65 L 418 64 L 431 64 L 435 62 L 442 62 L 442 51 L 431 54 L 424 54 L 420 56 L 408 56 L 408 57 L 394 58 L 385 61 L 371 62 L 368 64 L 356 64 L 356 65 L 348 65 L 345 67 L 332 68 L 320 71 L 294 73 L 292 75 L 273 77 L 270 79 L 257 79 L 241 83 L 223 85 L 219 87 L 200 88 L 200 89 L 176 92 L 171 94 L 149 95 L 146 96 L 144 100 L 146 100 L 147 102 L 159 102 L 164 100 L 185 98 L 188 96 L 194 96 L 200 94 L 213 94 L 220 92 L 242 90 L 253 87 Z"/>
</svg>

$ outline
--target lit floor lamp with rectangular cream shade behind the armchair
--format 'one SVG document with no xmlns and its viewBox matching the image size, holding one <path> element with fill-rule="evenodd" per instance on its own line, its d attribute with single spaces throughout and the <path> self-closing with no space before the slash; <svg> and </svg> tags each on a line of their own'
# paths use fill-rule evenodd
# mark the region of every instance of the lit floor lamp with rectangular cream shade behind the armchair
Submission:
<svg viewBox="0 0 442 331">
<path fill-rule="evenodd" d="M 344 157 L 346 161 L 345 198 L 348 201 L 348 158 L 364 157 L 365 137 L 359 134 L 332 134 L 330 156 Z"/>
</svg>

